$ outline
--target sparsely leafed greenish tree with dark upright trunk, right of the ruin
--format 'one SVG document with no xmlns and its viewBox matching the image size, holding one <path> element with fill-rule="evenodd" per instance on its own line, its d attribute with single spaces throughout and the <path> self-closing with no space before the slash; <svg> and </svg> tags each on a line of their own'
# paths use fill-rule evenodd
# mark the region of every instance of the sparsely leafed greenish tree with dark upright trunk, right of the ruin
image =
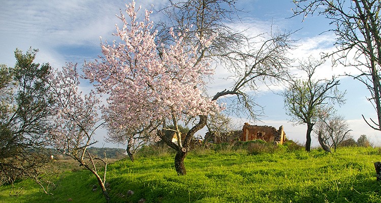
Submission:
<svg viewBox="0 0 381 203">
<path fill-rule="evenodd" d="M 290 79 L 290 86 L 282 93 L 284 107 L 296 123 L 307 124 L 306 151 L 311 149 L 311 132 L 319 118 L 332 113 L 333 104 L 344 102 L 344 93 L 338 91 L 339 81 L 332 79 L 314 79 L 314 74 L 323 60 L 316 61 L 312 57 L 300 62 L 299 69 L 307 74 L 306 80 Z"/>
</svg>

